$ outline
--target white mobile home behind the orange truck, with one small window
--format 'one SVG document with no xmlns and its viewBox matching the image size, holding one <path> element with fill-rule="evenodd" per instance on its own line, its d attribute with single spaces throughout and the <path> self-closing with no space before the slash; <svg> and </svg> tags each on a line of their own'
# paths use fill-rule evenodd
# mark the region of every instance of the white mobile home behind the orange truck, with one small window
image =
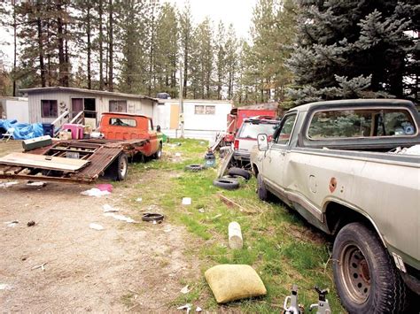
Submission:
<svg viewBox="0 0 420 314">
<path fill-rule="evenodd" d="M 183 119 L 184 137 L 211 141 L 217 133 L 226 131 L 231 109 L 230 101 L 187 99 L 183 100 L 182 116 L 178 99 L 159 99 L 153 118 L 169 137 L 180 137 Z"/>
</svg>

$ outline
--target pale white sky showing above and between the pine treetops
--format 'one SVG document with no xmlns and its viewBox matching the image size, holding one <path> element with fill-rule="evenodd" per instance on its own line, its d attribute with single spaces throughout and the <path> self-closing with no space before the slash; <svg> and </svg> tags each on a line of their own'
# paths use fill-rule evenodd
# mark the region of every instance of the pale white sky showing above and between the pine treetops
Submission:
<svg viewBox="0 0 420 314">
<path fill-rule="evenodd" d="M 170 4 L 176 4 L 179 10 L 183 10 L 185 3 L 190 2 L 191 15 L 197 25 L 206 17 L 214 21 L 214 29 L 217 29 L 219 21 L 225 24 L 226 28 L 232 24 L 237 31 L 238 37 L 248 37 L 253 16 L 253 7 L 257 0 L 165 0 Z M 4 65 L 12 65 L 13 47 L 12 35 L 0 27 L 0 51 L 4 53 Z M 9 42 L 10 44 L 4 44 Z"/>
</svg>

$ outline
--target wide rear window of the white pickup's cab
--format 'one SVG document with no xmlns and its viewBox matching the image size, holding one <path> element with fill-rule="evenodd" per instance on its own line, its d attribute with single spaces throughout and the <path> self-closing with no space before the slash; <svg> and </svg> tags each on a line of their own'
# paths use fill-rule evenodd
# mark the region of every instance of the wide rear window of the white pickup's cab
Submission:
<svg viewBox="0 0 420 314">
<path fill-rule="evenodd" d="M 416 134 L 416 124 L 404 109 L 317 111 L 307 137 L 312 140 Z"/>
</svg>

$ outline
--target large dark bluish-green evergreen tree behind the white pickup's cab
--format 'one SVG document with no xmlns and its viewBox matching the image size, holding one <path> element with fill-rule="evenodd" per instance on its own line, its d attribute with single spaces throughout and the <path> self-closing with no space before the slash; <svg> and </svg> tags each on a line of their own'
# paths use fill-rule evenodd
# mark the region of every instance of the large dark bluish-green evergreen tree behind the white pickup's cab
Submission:
<svg viewBox="0 0 420 314">
<path fill-rule="evenodd" d="M 290 96 L 296 103 L 405 96 L 404 77 L 416 71 L 410 67 L 417 62 L 416 41 L 406 33 L 416 30 L 416 6 L 396 0 L 299 4 L 299 46 L 289 61 L 297 84 Z"/>
</svg>

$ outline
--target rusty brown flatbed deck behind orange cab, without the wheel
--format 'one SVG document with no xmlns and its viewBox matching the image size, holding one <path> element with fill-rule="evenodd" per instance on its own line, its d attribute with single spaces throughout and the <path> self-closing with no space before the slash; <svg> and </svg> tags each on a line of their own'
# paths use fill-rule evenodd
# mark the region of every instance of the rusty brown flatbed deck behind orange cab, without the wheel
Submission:
<svg viewBox="0 0 420 314">
<path fill-rule="evenodd" d="M 13 158 L 9 156 L 0 158 L 0 178 L 92 182 L 104 175 L 121 154 L 133 157 L 146 142 L 147 140 L 144 139 L 54 142 L 52 145 L 20 155 L 27 156 L 26 165 L 22 165 L 25 164 L 24 159 L 13 162 Z M 35 165 L 34 159 L 38 158 L 34 158 L 34 155 L 43 156 L 43 164 L 50 165 Z M 52 157 L 80 159 L 87 163 L 76 171 L 70 171 L 67 167 L 60 167 Z"/>
</svg>

